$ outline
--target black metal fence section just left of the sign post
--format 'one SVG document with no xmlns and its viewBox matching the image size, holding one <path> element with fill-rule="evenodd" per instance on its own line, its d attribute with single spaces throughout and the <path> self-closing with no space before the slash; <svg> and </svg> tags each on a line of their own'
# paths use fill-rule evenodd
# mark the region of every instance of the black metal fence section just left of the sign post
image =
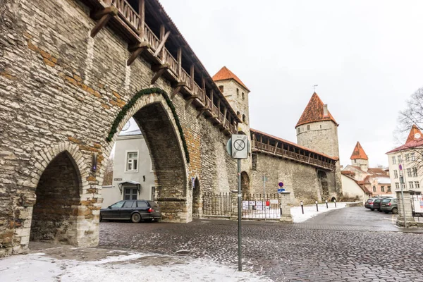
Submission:
<svg viewBox="0 0 423 282">
<path fill-rule="evenodd" d="M 204 216 L 231 216 L 232 197 L 231 193 L 205 192 L 203 194 Z"/>
</svg>

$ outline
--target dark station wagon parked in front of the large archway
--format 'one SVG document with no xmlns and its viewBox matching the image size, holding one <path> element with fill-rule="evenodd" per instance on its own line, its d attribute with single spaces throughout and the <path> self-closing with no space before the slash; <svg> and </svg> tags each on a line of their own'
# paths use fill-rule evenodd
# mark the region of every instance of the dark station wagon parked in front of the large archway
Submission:
<svg viewBox="0 0 423 282">
<path fill-rule="evenodd" d="M 160 207 L 149 200 L 123 200 L 116 202 L 106 209 L 100 209 L 100 221 L 130 220 L 134 223 L 144 221 L 160 221 Z"/>
</svg>

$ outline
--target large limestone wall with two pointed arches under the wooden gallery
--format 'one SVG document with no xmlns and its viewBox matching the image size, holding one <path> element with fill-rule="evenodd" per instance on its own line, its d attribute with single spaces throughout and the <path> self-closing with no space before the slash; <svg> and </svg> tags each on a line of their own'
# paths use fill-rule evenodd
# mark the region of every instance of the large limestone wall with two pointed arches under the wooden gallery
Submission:
<svg viewBox="0 0 423 282">
<path fill-rule="evenodd" d="M 105 160 L 118 134 L 106 141 L 111 125 L 136 92 L 172 92 L 164 78 L 149 85 L 154 72 L 145 59 L 126 66 L 128 42 L 109 26 L 90 37 L 94 24 L 90 8 L 77 0 L 0 2 L 0 257 L 25 252 L 30 237 L 97 245 Z M 140 98 L 118 131 L 130 116 L 140 123 L 164 219 L 188 222 L 188 179 L 196 177 L 201 192 L 228 192 L 236 167 L 226 154 L 228 137 L 197 119 L 194 106 L 185 109 L 179 94 L 173 104 L 189 164 L 160 94 Z"/>
</svg>

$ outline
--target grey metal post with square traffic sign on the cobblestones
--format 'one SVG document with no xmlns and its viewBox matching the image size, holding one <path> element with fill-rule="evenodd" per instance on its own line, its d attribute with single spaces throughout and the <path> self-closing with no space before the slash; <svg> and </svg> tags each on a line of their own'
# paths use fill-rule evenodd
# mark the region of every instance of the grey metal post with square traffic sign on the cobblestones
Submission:
<svg viewBox="0 0 423 282">
<path fill-rule="evenodd" d="M 238 271 L 243 271 L 241 250 L 241 219 L 243 215 L 243 188 L 241 187 L 241 159 L 247 159 L 248 152 L 250 152 L 250 142 L 247 135 L 233 134 L 226 143 L 226 151 L 233 159 L 238 160 Z"/>
</svg>

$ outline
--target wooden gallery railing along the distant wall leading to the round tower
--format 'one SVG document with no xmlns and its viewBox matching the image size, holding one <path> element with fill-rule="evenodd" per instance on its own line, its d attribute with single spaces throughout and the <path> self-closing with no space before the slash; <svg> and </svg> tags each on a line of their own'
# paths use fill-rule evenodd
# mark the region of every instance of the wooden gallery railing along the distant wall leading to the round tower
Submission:
<svg viewBox="0 0 423 282">
<path fill-rule="evenodd" d="M 264 143 L 261 143 L 261 142 L 258 142 L 258 141 L 253 142 L 253 144 L 254 144 L 253 149 L 258 149 L 260 151 L 269 152 L 271 154 L 276 154 L 276 155 L 279 155 L 279 156 L 282 156 L 282 157 L 286 157 L 288 159 L 294 159 L 295 161 L 300 161 L 300 162 L 306 163 L 306 164 L 313 164 L 313 165 L 321 166 L 323 168 L 328 168 L 328 169 L 331 169 L 331 170 L 336 168 L 335 164 L 331 164 L 327 161 L 321 161 L 319 159 L 314 159 L 314 158 L 311 158 L 311 157 L 309 158 L 305 155 L 298 154 L 296 152 L 291 152 L 291 151 L 288 151 L 286 149 L 281 149 L 279 147 L 271 146 L 271 145 L 264 144 Z"/>
</svg>

